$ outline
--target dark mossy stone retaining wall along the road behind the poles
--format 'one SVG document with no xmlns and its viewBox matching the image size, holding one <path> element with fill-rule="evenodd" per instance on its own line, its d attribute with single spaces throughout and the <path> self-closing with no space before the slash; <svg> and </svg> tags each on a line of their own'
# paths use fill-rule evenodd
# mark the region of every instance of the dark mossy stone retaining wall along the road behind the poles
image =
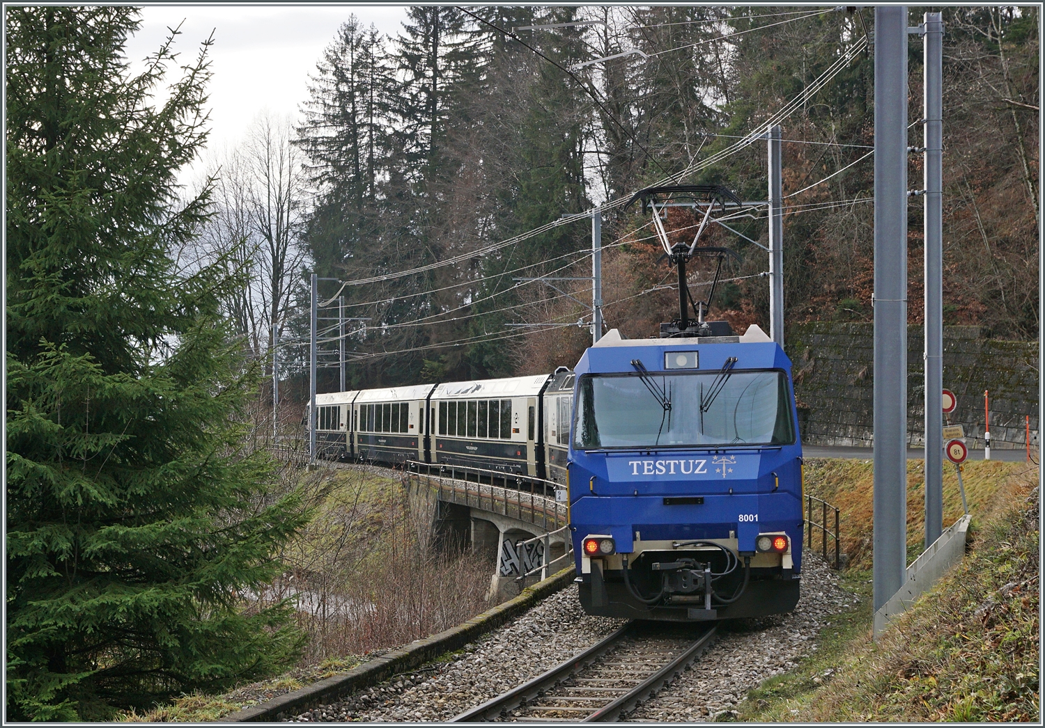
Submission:
<svg viewBox="0 0 1045 728">
<path fill-rule="evenodd" d="M 802 440 L 807 445 L 869 446 L 874 422 L 874 325 L 812 323 L 791 327 L 786 343 L 794 367 Z M 924 445 L 924 338 L 907 329 L 907 442 Z M 991 338 L 979 327 L 944 327 L 944 386 L 958 406 L 967 442 L 983 445 L 983 391 L 990 392 L 991 446 L 1031 444 L 1038 432 L 1038 343 Z"/>
</svg>

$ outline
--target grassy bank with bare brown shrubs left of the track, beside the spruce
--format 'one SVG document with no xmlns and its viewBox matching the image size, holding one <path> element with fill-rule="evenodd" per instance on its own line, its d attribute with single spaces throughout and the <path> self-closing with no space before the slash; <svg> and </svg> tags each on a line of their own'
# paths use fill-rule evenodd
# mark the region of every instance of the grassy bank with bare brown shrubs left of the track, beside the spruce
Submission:
<svg viewBox="0 0 1045 728">
<path fill-rule="evenodd" d="M 291 471 L 284 480 L 284 487 L 305 489 L 314 517 L 284 550 L 282 578 L 254 604 L 294 600 L 303 635 L 298 665 L 220 696 L 183 696 L 124 720 L 218 720 L 489 608 L 492 562 L 436 544 L 431 514 L 408 508 L 398 477 L 321 467 Z"/>
</svg>

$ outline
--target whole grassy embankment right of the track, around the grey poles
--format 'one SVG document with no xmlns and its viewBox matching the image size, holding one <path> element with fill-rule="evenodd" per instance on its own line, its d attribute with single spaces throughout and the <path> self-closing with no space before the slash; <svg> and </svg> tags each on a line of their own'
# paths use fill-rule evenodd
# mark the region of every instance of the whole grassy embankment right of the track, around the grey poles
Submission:
<svg viewBox="0 0 1045 728">
<path fill-rule="evenodd" d="M 923 464 L 908 462 L 907 551 L 924 538 Z M 738 720 L 751 722 L 1035 721 L 1039 710 L 1038 468 L 968 463 L 973 514 L 969 553 L 872 640 L 869 462 L 810 461 L 807 492 L 842 511 L 850 568 L 843 587 L 859 606 L 837 615 L 818 649 L 786 675 L 751 690 Z M 945 524 L 961 515 L 953 467 L 944 478 Z M 814 541 L 816 539 L 814 538 Z"/>
</svg>

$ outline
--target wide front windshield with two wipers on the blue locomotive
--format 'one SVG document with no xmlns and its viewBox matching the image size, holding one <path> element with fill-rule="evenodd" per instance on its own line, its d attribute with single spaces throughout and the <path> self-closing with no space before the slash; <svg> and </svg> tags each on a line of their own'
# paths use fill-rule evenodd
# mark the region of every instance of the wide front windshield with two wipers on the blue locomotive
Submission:
<svg viewBox="0 0 1045 728">
<path fill-rule="evenodd" d="M 780 371 L 588 375 L 581 378 L 574 447 L 790 445 L 787 376 Z"/>
</svg>

